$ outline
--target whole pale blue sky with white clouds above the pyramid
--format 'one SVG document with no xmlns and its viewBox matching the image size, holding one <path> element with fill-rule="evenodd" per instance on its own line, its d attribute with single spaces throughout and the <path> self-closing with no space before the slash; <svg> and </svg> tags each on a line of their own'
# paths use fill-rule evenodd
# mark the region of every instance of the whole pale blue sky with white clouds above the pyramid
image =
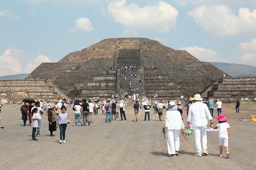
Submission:
<svg viewBox="0 0 256 170">
<path fill-rule="evenodd" d="M 117 37 L 150 38 L 201 61 L 256 66 L 256 1 L 2 0 L 0 76 L 30 73 Z"/>
</svg>

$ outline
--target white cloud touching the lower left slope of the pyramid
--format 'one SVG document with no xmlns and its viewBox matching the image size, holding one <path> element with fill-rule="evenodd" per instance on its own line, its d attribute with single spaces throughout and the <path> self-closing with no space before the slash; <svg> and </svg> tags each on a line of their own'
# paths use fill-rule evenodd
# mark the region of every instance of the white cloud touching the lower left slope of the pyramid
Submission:
<svg viewBox="0 0 256 170">
<path fill-rule="evenodd" d="M 44 55 L 39 55 L 37 58 L 33 58 L 25 67 L 24 73 L 31 73 L 36 67 L 38 67 L 41 63 L 50 63 L 52 62 L 49 57 Z"/>
</svg>

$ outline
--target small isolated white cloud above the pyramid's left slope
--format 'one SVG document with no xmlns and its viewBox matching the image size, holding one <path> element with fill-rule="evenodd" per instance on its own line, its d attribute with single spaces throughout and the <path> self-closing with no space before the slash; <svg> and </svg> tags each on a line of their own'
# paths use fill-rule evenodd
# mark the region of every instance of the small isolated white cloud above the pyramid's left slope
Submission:
<svg viewBox="0 0 256 170">
<path fill-rule="evenodd" d="M 94 30 L 93 26 L 91 26 L 91 22 L 89 18 L 78 18 L 75 20 L 75 27 L 70 29 L 70 32 L 78 32 L 78 31 L 92 31 Z"/>
</svg>

